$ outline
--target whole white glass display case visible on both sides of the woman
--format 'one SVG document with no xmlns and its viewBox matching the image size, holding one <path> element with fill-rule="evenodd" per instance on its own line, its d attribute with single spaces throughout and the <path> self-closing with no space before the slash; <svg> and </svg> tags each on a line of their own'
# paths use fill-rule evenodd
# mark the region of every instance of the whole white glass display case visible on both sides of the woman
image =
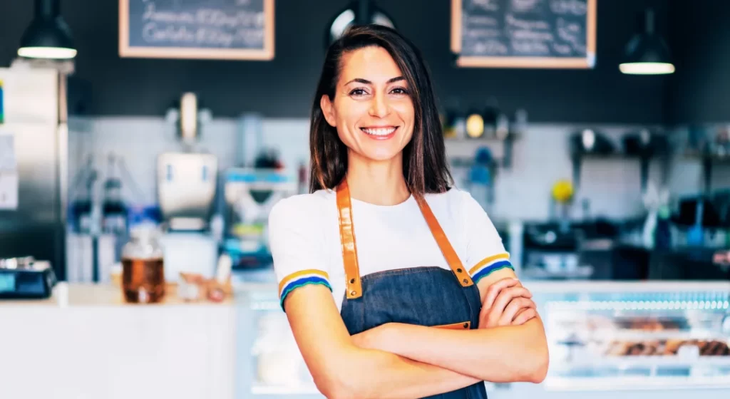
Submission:
<svg viewBox="0 0 730 399">
<path fill-rule="evenodd" d="M 730 398 L 730 282 L 525 284 L 545 323 L 548 378 L 488 384 L 490 399 Z M 238 298 L 236 397 L 323 398 L 276 285 L 245 284 Z"/>
</svg>

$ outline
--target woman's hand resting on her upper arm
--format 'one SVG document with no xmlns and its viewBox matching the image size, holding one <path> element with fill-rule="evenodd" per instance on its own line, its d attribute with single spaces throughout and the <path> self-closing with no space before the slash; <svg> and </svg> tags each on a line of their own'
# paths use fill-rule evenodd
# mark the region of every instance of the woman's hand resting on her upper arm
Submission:
<svg viewBox="0 0 730 399">
<path fill-rule="evenodd" d="M 518 279 L 501 279 L 491 284 L 482 303 L 479 328 L 523 325 L 537 317 L 532 294 Z"/>
</svg>

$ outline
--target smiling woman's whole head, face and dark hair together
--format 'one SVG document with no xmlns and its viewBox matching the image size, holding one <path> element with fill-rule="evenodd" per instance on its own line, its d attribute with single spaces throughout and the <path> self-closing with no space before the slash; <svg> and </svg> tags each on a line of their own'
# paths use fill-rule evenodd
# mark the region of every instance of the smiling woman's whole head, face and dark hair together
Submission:
<svg viewBox="0 0 730 399">
<path fill-rule="evenodd" d="M 350 29 L 328 50 L 312 106 L 312 191 L 342 181 L 349 150 L 366 158 L 375 150 L 380 154 L 375 160 L 403 160 L 407 185 L 420 193 L 449 187 L 448 170 L 438 168 L 445 164 L 445 147 L 437 136 L 440 121 L 429 72 L 418 50 L 386 29 Z M 392 142 L 374 146 L 358 139 L 362 128 L 387 128 L 388 123 L 396 127 L 395 135 L 386 136 Z M 340 140 L 332 140 L 335 135 Z M 423 151 L 412 152 L 414 146 Z"/>
</svg>

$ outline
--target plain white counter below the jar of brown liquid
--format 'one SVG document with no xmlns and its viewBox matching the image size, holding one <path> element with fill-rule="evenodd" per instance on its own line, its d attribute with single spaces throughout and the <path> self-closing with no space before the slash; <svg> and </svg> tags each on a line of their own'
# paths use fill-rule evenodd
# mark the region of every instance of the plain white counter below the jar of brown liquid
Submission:
<svg viewBox="0 0 730 399">
<path fill-rule="evenodd" d="M 0 398 L 233 398 L 234 306 L 58 284 L 0 302 Z"/>
</svg>

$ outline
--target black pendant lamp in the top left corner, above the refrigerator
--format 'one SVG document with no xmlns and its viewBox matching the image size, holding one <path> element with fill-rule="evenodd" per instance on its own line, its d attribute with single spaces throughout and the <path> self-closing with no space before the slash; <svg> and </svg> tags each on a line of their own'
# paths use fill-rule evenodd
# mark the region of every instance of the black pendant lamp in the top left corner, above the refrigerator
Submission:
<svg viewBox="0 0 730 399">
<path fill-rule="evenodd" d="M 18 55 L 67 60 L 76 56 L 71 29 L 61 18 L 60 0 L 35 0 L 35 13 L 20 39 Z"/>
</svg>

